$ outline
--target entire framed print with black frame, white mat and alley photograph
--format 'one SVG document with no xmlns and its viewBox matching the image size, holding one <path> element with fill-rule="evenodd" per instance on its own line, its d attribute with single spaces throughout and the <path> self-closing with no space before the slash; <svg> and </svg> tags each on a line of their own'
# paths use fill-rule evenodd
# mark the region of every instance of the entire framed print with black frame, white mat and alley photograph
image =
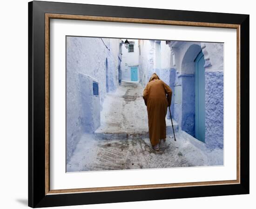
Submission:
<svg viewBox="0 0 256 209">
<path fill-rule="evenodd" d="M 28 3 L 28 205 L 249 194 L 249 15 Z"/>
</svg>

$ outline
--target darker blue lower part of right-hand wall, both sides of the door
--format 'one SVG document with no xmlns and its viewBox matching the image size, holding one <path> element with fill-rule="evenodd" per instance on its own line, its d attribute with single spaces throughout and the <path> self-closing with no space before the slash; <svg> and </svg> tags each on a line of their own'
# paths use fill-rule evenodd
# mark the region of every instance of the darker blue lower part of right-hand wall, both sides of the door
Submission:
<svg viewBox="0 0 256 209">
<path fill-rule="evenodd" d="M 173 118 L 180 128 L 195 137 L 195 78 L 193 74 L 171 71 L 170 86 L 182 85 L 182 103 L 172 104 Z M 223 72 L 205 72 L 205 143 L 210 148 L 223 148 Z"/>
</svg>

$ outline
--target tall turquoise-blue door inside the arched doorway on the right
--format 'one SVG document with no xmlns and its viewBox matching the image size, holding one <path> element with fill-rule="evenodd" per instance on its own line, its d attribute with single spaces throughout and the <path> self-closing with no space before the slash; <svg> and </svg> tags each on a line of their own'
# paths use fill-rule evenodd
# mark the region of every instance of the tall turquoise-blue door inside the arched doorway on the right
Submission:
<svg viewBox="0 0 256 209">
<path fill-rule="evenodd" d="M 195 138 L 205 142 L 205 75 L 204 56 L 195 59 Z"/>
</svg>

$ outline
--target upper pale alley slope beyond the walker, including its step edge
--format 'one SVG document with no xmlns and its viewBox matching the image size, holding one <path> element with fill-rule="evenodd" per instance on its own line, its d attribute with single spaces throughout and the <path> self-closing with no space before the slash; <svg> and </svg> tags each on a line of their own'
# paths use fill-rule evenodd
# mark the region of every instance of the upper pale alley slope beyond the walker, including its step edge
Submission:
<svg viewBox="0 0 256 209">
<path fill-rule="evenodd" d="M 148 113 L 142 98 L 143 87 L 138 82 L 122 82 L 115 93 L 110 93 L 101 111 L 101 126 L 94 132 L 105 139 L 128 139 L 148 136 Z M 166 119 L 167 132 L 172 131 Z M 177 129 L 177 123 L 174 121 Z"/>
</svg>

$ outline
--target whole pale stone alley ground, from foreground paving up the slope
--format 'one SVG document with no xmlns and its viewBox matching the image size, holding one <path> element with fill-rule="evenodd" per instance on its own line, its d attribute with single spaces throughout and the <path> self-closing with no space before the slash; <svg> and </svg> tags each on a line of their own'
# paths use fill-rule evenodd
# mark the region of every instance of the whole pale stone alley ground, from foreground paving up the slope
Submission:
<svg viewBox="0 0 256 209">
<path fill-rule="evenodd" d="M 184 131 L 175 135 L 166 119 L 167 140 L 160 150 L 152 149 L 148 138 L 148 115 L 138 82 L 122 82 L 108 93 L 101 111 L 101 126 L 94 134 L 84 133 L 67 163 L 67 172 L 93 170 L 152 169 L 219 165 L 223 150 L 209 150 Z"/>
</svg>

